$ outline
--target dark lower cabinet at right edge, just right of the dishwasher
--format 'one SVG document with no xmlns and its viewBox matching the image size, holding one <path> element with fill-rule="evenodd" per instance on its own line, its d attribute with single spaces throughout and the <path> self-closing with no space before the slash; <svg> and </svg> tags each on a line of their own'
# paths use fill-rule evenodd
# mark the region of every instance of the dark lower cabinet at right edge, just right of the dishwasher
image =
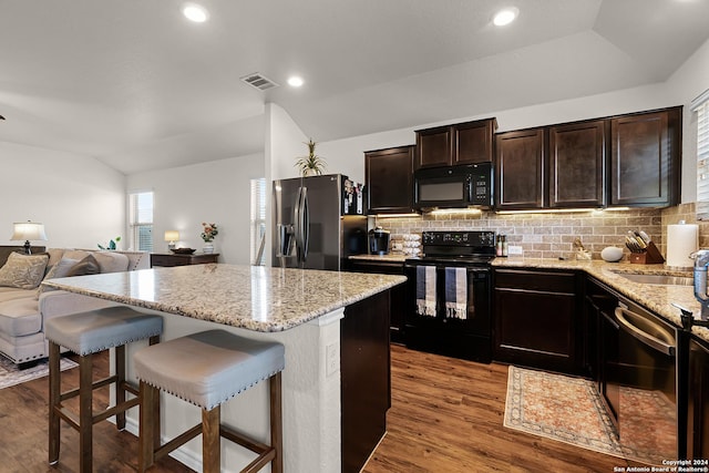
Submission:
<svg viewBox="0 0 709 473">
<path fill-rule="evenodd" d="M 709 345 L 689 340 L 687 457 L 709 459 Z"/>
</svg>

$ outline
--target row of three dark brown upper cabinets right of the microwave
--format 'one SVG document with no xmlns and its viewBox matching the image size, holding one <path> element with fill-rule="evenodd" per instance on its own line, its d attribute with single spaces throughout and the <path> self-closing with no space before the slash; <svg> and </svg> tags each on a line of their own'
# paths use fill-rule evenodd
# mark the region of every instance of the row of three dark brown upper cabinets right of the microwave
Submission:
<svg viewBox="0 0 709 473">
<path fill-rule="evenodd" d="M 499 133 L 497 209 L 679 202 L 681 106 Z"/>
</svg>

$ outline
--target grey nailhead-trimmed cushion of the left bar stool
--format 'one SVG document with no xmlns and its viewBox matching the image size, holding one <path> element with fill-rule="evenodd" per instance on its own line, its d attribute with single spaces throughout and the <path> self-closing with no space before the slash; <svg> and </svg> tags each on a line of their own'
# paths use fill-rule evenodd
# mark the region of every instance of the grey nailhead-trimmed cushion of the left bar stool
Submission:
<svg viewBox="0 0 709 473">
<path fill-rule="evenodd" d="M 44 323 L 48 340 L 82 357 L 162 332 L 162 317 L 122 306 L 54 317 Z"/>
</svg>

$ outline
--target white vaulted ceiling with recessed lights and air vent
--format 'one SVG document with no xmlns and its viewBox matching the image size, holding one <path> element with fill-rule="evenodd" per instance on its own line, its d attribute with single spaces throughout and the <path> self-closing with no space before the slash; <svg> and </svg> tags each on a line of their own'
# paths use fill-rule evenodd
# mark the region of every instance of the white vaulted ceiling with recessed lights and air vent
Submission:
<svg viewBox="0 0 709 473">
<path fill-rule="evenodd" d="M 267 102 L 331 141 L 662 82 L 709 38 L 706 0 L 201 4 L 0 0 L 0 141 L 132 174 L 261 152 Z"/>
</svg>

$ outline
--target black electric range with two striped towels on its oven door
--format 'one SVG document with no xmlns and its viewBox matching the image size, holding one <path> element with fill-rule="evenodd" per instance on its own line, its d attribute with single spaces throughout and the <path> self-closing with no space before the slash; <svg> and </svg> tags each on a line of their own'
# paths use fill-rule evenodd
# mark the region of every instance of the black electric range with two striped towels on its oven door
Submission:
<svg viewBox="0 0 709 473">
<path fill-rule="evenodd" d="M 495 233 L 423 232 L 421 239 L 423 256 L 404 264 L 407 347 L 491 362 L 490 261 L 495 257 Z M 456 298 L 461 311 L 452 308 L 451 299 Z M 424 302 L 431 310 L 422 310 Z"/>
</svg>

